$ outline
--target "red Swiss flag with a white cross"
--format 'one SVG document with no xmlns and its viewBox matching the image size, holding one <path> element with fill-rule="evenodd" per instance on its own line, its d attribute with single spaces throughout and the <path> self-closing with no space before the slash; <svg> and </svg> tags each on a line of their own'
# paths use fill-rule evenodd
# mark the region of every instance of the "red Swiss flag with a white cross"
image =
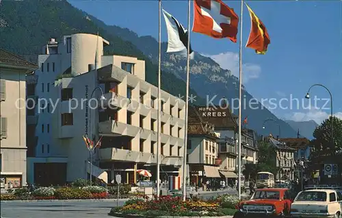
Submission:
<svg viewBox="0 0 342 218">
<path fill-rule="evenodd" d="M 192 31 L 237 42 L 239 17 L 221 0 L 195 0 Z"/>
</svg>

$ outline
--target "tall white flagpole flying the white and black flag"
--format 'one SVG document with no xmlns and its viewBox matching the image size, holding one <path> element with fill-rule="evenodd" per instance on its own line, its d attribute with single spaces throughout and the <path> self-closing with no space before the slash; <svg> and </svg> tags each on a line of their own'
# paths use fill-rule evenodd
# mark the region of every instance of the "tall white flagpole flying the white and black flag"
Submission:
<svg viewBox="0 0 342 218">
<path fill-rule="evenodd" d="M 160 150 L 160 126 L 161 126 L 161 0 L 159 0 L 159 57 L 158 57 L 158 124 L 157 124 L 157 197 L 160 195 L 160 163 L 159 163 L 159 150 Z"/>
</svg>

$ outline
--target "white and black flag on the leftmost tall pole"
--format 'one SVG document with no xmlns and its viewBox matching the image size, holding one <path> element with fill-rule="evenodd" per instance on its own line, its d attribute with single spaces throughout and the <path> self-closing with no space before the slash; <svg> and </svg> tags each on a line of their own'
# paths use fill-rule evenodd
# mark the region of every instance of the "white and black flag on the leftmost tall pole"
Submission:
<svg viewBox="0 0 342 218">
<path fill-rule="evenodd" d="M 176 18 L 163 10 L 166 29 L 168 29 L 168 50 L 167 53 L 176 53 L 176 55 L 187 56 L 187 34 L 188 31 L 179 23 Z M 190 59 L 194 58 L 194 51 L 189 48 Z"/>
</svg>

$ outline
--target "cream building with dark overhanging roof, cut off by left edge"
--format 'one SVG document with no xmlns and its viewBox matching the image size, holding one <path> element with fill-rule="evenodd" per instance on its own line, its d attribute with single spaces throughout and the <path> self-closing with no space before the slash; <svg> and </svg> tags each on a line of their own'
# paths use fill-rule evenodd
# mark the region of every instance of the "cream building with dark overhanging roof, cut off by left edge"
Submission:
<svg viewBox="0 0 342 218">
<path fill-rule="evenodd" d="M 25 74 L 38 66 L 0 49 L 1 189 L 26 185 Z"/>
</svg>

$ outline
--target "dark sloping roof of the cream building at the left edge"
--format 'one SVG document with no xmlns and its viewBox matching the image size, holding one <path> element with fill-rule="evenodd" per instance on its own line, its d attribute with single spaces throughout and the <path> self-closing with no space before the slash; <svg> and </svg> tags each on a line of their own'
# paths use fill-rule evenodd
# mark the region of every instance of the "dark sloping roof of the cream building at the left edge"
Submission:
<svg viewBox="0 0 342 218">
<path fill-rule="evenodd" d="M 4 49 L 0 49 L 0 64 L 6 64 L 10 66 L 18 66 L 24 68 L 39 68 L 36 64 L 28 62 L 27 60 L 19 57 L 18 55 L 14 55 Z"/>
</svg>

